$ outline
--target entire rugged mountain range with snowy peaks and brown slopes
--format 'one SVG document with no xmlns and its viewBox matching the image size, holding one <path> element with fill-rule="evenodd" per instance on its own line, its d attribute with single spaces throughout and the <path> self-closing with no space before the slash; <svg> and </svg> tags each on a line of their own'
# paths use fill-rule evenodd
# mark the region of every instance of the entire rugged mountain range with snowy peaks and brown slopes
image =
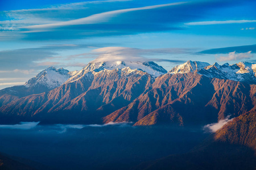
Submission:
<svg viewBox="0 0 256 170">
<path fill-rule="evenodd" d="M 197 61 L 169 73 L 154 62 L 90 62 L 75 73 L 49 67 L 23 87 L 42 85 L 41 93 L 0 91 L 0 121 L 201 126 L 255 108 L 254 71 L 254 63 Z"/>
</svg>

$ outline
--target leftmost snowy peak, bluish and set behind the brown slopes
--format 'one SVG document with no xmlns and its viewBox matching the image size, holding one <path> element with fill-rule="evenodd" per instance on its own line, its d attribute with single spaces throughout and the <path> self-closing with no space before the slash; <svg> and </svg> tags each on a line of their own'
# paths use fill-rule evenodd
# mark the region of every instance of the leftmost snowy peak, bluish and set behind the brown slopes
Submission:
<svg viewBox="0 0 256 170">
<path fill-rule="evenodd" d="M 68 78 L 71 77 L 73 72 L 65 70 L 63 68 L 56 69 L 55 67 L 48 67 L 46 70 L 41 71 L 34 78 L 28 80 L 24 86 L 44 86 L 49 89 L 53 89 L 61 86 Z"/>
</svg>

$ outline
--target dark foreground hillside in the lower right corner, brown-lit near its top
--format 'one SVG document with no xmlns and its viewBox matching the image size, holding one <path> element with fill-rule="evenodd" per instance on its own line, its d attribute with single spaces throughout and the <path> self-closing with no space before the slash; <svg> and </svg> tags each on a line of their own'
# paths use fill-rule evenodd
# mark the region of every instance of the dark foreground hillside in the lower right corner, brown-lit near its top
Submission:
<svg viewBox="0 0 256 170">
<path fill-rule="evenodd" d="M 200 146 L 133 169 L 251 169 L 256 168 L 256 112 L 234 118 Z"/>
</svg>

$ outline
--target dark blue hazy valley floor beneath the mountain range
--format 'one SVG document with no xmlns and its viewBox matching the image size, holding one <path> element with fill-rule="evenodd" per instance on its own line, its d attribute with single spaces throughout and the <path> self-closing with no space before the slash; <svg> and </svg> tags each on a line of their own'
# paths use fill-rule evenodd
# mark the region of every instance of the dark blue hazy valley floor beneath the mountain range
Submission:
<svg viewBox="0 0 256 170">
<path fill-rule="evenodd" d="M 0 125 L 0 152 L 55 169 L 130 169 L 188 152 L 209 134 L 201 129 L 108 125 Z"/>
</svg>

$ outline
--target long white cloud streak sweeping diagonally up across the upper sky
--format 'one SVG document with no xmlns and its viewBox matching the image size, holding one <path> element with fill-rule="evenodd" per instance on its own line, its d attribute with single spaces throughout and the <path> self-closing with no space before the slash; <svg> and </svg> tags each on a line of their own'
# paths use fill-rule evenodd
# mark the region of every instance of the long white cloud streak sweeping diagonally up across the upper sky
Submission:
<svg viewBox="0 0 256 170">
<path fill-rule="evenodd" d="M 110 18 L 113 18 L 115 15 L 122 14 L 125 12 L 139 11 L 139 10 L 150 10 L 150 9 L 160 8 L 160 7 L 181 5 L 183 3 L 186 3 L 186 2 L 176 2 L 176 3 L 167 3 L 167 4 L 163 4 L 163 5 L 154 5 L 154 6 L 145 6 L 145 7 L 138 7 L 138 8 L 127 8 L 127 9 L 123 9 L 123 10 L 114 10 L 114 11 L 108 11 L 108 12 L 102 12 L 99 14 L 90 15 L 90 16 L 87 16 L 85 18 L 80 18 L 80 19 L 74 19 L 74 20 L 69 20 L 69 21 L 59 22 L 59 23 L 54 23 L 54 24 L 30 25 L 30 26 L 27 26 L 24 28 L 42 29 L 42 28 L 56 28 L 56 27 L 67 26 L 67 25 L 104 23 L 104 22 L 108 22 L 108 20 Z"/>
</svg>

